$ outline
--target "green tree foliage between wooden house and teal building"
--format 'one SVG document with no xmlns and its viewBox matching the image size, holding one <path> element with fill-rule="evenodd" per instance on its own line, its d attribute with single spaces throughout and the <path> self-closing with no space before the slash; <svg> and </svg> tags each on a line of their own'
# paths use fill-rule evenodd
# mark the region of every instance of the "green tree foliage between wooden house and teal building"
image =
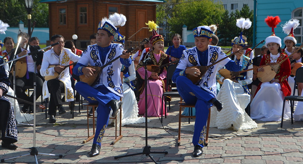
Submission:
<svg viewBox="0 0 303 164">
<path fill-rule="evenodd" d="M 186 1 L 167 0 L 157 5 L 157 24 L 163 27 L 170 35 L 182 33 L 182 26 L 188 30 L 201 25 L 219 24 L 218 37 L 220 45 L 231 45 L 231 40 L 240 35 L 240 28 L 236 26 L 236 19 L 249 18 L 253 22 L 253 10 L 245 5 L 241 11 L 229 12 L 224 9 L 221 2 L 211 0 Z M 252 43 L 253 25 L 243 31 L 248 43 Z"/>
</svg>

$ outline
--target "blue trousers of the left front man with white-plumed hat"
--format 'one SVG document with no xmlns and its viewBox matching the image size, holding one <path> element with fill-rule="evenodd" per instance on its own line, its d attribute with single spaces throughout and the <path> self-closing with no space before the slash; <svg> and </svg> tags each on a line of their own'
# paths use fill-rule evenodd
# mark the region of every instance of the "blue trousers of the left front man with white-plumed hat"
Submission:
<svg viewBox="0 0 303 164">
<path fill-rule="evenodd" d="M 120 96 L 108 90 L 104 85 L 93 88 L 85 82 L 77 82 L 75 89 L 80 93 L 89 103 L 98 104 L 97 111 L 97 127 L 93 143 L 101 146 L 101 141 L 105 129 L 108 125 L 109 113 L 111 107 L 107 105 L 111 100 L 120 100 Z"/>
</svg>

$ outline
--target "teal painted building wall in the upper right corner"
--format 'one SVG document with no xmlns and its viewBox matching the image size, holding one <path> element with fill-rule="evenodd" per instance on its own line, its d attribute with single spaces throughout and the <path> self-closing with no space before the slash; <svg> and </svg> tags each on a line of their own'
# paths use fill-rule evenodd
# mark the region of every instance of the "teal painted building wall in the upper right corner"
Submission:
<svg viewBox="0 0 303 164">
<path fill-rule="evenodd" d="M 281 22 L 277 25 L 277 28 L 275 28 L 275 35 L 281 38 L 281 48 L 284 48 L 285 44 L 283 43 L 283 39 L 286 34 L 282 31 L 281 25 L 291 19 L 291 13 L 296 8 L 301 7 L 303 7 L 303 0 L 257 0 L 256 43 L 258 44 L 261 40 L 265 40 L 266 37 L 271 35 L 271 28 L 264 22 L 264 19 L 268 15 L 278 15 Z M 258 48 L 261 47 L 262 45 L 258 46 Z"/>
</svg>

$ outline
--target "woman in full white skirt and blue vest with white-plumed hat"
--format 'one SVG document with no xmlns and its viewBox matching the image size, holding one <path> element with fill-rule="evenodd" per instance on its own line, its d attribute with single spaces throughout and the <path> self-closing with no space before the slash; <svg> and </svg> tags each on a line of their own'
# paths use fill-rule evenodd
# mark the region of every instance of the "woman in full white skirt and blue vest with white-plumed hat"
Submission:
<svg viewBox="0 0 303 164">
<path fill-rule="evenodd" d="M 241 35 L 231 40 L 232 51 L 236 52 L 247 45 Z M 236 60 L 235 56 L 231 56 L 232 60 Z M 241 56 L 241 71 L 251 69 L 252 60 L 247 56 Z M 229 73 L 229 71 L 228 71 Z M 215 108 L 211 109 L 210 126 L 218 127 L 218 129 L 228 129 L 233 126 L 234 130 L 257 128 L 257 123 L 253 121 L 245 112 L 245 108 L 250 102 L 250 92 L 248 84 L 252 82 L 253 70 L 242 72 L 232 79 L 225 79 L 219 72 L 217 78 L 223 82 L 217 99 L 224 104 L 224 108 L 218 112 Z"/>
</svg>

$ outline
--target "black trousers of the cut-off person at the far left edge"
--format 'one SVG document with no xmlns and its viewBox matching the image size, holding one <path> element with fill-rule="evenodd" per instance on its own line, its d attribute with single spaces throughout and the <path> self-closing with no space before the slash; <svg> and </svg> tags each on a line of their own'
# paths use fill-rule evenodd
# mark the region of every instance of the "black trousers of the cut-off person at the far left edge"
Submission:
<svg viewBox="0 0 303 164">
<path fill-rule="evenodd" d="M 9 102 L 0 101 L 0 129 L 1 129 L 1 140 L 5 142 L 5 144 L 15 143 L 17 142 L 15 139 L 5 137 L 5 130 L 7 129 L 8 118 L 9 118 L 9 110 L 10 104 Z M 11 122 L 14 122 L 12 120 Z"/>
</svg>

